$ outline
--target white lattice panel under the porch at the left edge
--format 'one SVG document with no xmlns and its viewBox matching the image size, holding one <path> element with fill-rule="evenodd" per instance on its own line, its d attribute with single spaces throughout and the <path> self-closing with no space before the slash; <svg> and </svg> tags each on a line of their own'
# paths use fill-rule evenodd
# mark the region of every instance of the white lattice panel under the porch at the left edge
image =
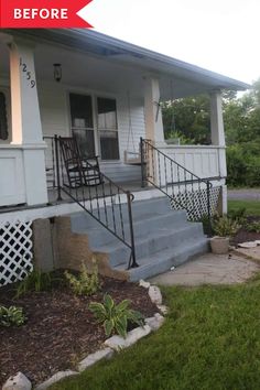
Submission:
<svg viewBox="0 0 260 390">
<path fill-rule="evenodd" d="M 0 286 L 22 280 L 32 271 L 32 223 L 0 226 Z"/>
</svg>

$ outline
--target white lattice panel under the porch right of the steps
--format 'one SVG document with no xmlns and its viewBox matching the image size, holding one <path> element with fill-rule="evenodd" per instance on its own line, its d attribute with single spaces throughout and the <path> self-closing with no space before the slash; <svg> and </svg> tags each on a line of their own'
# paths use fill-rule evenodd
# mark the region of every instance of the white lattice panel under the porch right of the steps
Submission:
<svg viewBox="0 0 260 390">
<path fill-rule="evenodd" d="M 209 194 L 210 215 L 217 210 L 220 187 L 212 187 Z M 199 220 L 208 213 L 207 189 L 187 191 L 174 195 L 171 201 L 173 209 L 186 209 L 188 220 Z"/>
</svg>

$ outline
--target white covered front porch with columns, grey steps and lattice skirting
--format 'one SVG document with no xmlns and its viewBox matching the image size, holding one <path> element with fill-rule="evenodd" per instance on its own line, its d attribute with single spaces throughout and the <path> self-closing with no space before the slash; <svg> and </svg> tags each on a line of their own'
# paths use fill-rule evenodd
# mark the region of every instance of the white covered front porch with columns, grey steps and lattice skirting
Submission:
<svg viewBox="0 0 260 390">
<path fill-rule="evenodd" d="M 173 258 L 176 263 L 185 261 L 193 247 L 205 250 L 207 242 L 201 225 L 191 227 L 186 212 L 189 206 L 193 212 L 198 210 L 195 217 L 188 214 L 193 220 L 205 213 L 209 216 L 216 206 L 210 199 L 216 204 L 219 188 L 221 210 L 226 210 L 221 89 L 239 90 L 246 85 L 93 31 L 6 30 L 0 33 L 0 261 L 7 273 L 3 283 L 13 281 L 12 274 L 21 279 L 32 268 L 32 258 L 44 253 L 41 247 L 35 254 L 37 234 L 33 226 L 39 219 L 48 226 L 45 238 L 52 248 L 55 218 L 79 210 L 87 216 L 87 221 L 79 218 L 79 225 L 91 227 L 93 237 L 99 238 L 93 248 L 87 247 L 88 256 L 104 251 L 105 263 L 111 260 L 109 267 L 119 266 L 120 272 L 122 268 L 126 271 L 127 264 L 137 266 L 139 258 L 143 260 L 140 272 L 151 275 L 151 269 L 159 268 L 150 263 L 150 256 L 156 262 L 158 253 L 164 251 L 162 270 Z M 167 145 L 161 101 L 202 93 L 210 96 L 212 144 Z M 106 176 L 100 186 L 58 186 L 63 167 L 61 173 L 55 165 L 55 134 L 74 136 L 83 158 L 99 156 L 100 171 Z M 126 159 L 126 152 L 139 153 L 140 138 L 147 140 L 142 165 Z M 142 187 L 143 182 L 147 187 Z M 169 201 L 177 209 L 176 216 L 181 216 L 187 240 L 192 239 L 182 252 L 177 246 L 183 242 L 182 229 L 175 224 Z M 94 221 L 98 221 L 98 228 L 93 229 Z M 68 219 L 64 224 L 57 221 L 57 228 L 63 231 L 69 224 Z M 194 234 L 191 237 L 189 229 Z M 84 230 L 84 238 L 80 232 L 80 239 L 74 232 L 69 228 L 67 236 L 61 232 L 59 256 L 71 253 L 78 258 L 69 242 L 77 247 L 83 239 L 88 246 L 88 231 Z M 109 248 L 104 248 L 105 236 L 106 242 L 111 242 Z M 68 245 L 67 252 L 62 251 L 63 242 Z M 44 261 L 47 263 L 47 258 Z M 128 278 L 132 280 L 139 275 L 131 272 Z"/>
</svg>

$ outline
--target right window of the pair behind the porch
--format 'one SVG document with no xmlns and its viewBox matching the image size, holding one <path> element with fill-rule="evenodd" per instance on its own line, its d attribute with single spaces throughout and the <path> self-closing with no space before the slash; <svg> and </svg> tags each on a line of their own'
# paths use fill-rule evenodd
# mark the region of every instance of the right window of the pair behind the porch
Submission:
<svg viewBox="0 0 260 390">
<path fill-rule="evenodd" d="M 119 160 L 116 100 L 97 98 L 97 110 L 101 159 Z"/>
</svg>

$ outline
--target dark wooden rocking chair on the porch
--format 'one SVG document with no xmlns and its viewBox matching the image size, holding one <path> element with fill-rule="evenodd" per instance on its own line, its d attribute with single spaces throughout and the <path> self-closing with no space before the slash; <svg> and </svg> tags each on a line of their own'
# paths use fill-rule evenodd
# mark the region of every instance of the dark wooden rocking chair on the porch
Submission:
<svg viewBox="0 0 260 390">
<path fill-rule="evenodd" d="M 98 156 L 83 159 L 74 137 L 59 137 L 59 147 L 67 173 L 66 186 L 76 188 L 80 186 L 95 186 L 102 183 Z"/>
</svg>

